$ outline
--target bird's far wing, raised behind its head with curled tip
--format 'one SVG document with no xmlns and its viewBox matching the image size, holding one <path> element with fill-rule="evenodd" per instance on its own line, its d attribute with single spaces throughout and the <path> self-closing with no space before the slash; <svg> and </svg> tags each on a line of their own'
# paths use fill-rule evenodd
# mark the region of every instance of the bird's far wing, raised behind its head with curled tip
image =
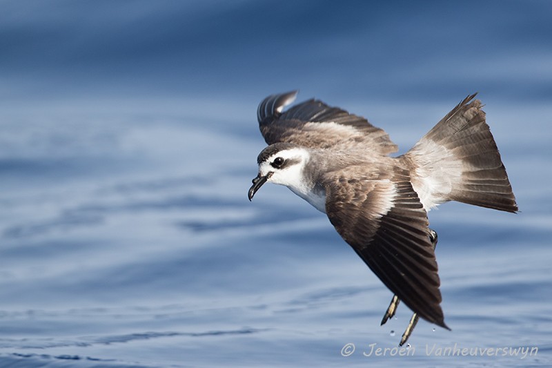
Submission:
<svg viewBox="0 0 552 368">
<path fill-rule="evenodd" d="M 297 91 L 266 97 L 257 110 L 259 128 L 267 144 L 288 142 L 308 148 L 363 146 L 382 155 L 397 152 L 384 130 L 364 117 L 309 99 L 282 112 Z"/>
</svg>

